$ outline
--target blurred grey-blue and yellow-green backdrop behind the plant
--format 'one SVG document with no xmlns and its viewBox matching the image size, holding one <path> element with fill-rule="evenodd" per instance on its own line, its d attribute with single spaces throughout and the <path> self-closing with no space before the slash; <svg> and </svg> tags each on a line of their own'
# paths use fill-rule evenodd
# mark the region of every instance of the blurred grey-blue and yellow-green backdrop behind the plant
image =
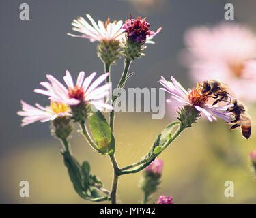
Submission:
<svg viewBox="0 0 256 218">
<path fill-rule="evenodd" d="M 19 6 L 27 3 L 30 20 L 19 19 Z M 29 104 L 48 104 L 46 97 L 33 93 L 45 75 L 61 80 L 66 69 L 76 76 L 103 72 L 96 55 L 97 43 L 69 37 L 71 22 L 85 13 L 95 20 L 127 20 L 132 14 L 147 16 L 152 30 L 163 26 L 154 41 L 147 46 L 146 56 L 133 61 L 130 72 L 136 74 L 126 87 L 160 87 L 160 76 L 172 74 L 184 87 L 195 82 L 188 69 L 179 61 L 184 49 L 184 33 L 197 25 L 216 25 L 224 19 L 225 3 L 233 3 L 235 21 L 245 23 L 255 31 L 256 1 L 205 0 L 44 0 L 0 1 L 0 203 L 1 204 L 90 204 L 76 195 L 59 153 L 61 145 L 49 133 L 49 123 L 33 123 L 20 127 L 20 99 Z M 114 86 L 119 81 L 123 59 L 112 67 Z M 173 120 L 166 108 L 165 119 L 152 120 L 151 113 L 117 113 L 115 123 L 116 157 L 119 166 L 138 161 L 147 153 L 156 136 Z M 249 108 L 255 120 L 255 106 Z M 254 127 L 254 125 L 253 125 Z M 209 123 L 201 119 L 186 129 L 167 151 L 162 185 L 152 197 L 173 196 L 175 204 L 255 204 L 256 180 L 248 154 L 255 149 L 255 130 L 249 140 L 240 129 L 230 133 L 223 121 Z M 91 163 L 107 189 L 111 188 L 112 168 L 109 157 L 89 148 L 85 139 L 74 133 L 72 151 L 79 161 Z M 119 179 L 118 195 L 124 204 L 141 200 L 138 183 L 141 172 Z M 29 181 L 30 197 L 20 198 L 20 181 Z M 234 198 L 225 198 L 224 183 L 233 181 Z M 109 203 L 109 202 L 103 202 Z"/>
</svg>

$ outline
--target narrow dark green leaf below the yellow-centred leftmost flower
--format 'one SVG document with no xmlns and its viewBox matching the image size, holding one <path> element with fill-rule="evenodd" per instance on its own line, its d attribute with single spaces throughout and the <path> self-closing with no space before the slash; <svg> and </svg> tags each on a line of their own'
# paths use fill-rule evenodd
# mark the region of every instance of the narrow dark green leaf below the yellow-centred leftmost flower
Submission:
<svg viewBox="0 0 256 218">
<path fill-rule="evenodd" d="M 63 155 L 65 166 L 68 168 L 68 174 L 70 181 L 73 183 L 74 190 L 81 198 L 85 198 L 86 193 L 82 185 L 81 167 L 78 161 L 68 151 L 61 152 L 61 155 Z"/>
</svg>

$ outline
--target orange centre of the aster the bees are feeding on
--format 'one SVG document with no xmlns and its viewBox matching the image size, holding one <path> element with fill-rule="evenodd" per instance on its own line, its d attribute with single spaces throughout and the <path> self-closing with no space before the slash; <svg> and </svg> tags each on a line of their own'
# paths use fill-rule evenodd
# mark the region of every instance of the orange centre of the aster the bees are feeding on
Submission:
<svg viewBox="0 0 256 218">
<path fill-rule="evenodd" d="M 203 106 L 207 102 L 210 95 L 203 95 L 202 91 L 203 91 L 203 87 L 199 82 L 197 83 L 197 87 L 191 89 L 190 93 L 188 93 L 188 99 L 193 106 L 194 105 Z"/>
</svg>

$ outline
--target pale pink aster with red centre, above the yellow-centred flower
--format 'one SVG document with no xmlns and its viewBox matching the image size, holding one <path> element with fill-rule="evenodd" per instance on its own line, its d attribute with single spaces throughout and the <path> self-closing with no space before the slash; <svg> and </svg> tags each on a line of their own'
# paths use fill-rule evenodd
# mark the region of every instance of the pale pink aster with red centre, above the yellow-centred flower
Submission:
<svg viewBox="0 0 256 218">
<path fill-rule="evenodd" d="M 96 76 L 96 72 L 85 78 L 85 72 L 80 72 L 77 76 L 76 85 L 72 80 L 70 72 L 66 71 L 66 76 L 63 80 L 66 82 L 66 87 L 61 84 L 54 76 L 46 75 L 49 82 L 40 82 L 44 89 L 35 89 L 35 93 L 49 96 L 49 99 L 53 102 L 59 102 L 70 106 L 77 105 L 85 102 L 85 104 L 94 105 L 98 110 L 110 109 L 113 107 L 104 103 L 103 99 L 109 95 L 110 84 L 104 84 L 101 87 L 99 85 L 106 80 L 109 73 L 99 76 L 94 82 L 92 80 Z"/>
</svg>

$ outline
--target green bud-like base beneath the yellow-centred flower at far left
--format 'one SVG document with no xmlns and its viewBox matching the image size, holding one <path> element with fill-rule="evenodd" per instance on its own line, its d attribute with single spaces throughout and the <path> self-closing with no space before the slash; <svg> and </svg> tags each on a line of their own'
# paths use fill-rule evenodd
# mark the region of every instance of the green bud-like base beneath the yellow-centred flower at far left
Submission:
<svg viewBox="0 0 256 218">
<path fill-rule="evenodd" d="M 60 139 L 67 139 L 73 131 L 70 121 L 70 116 L 58 116 L 56 119 L 54 119 L 54 128 L 51 130 L 53 136 Z"/>
</svg>

